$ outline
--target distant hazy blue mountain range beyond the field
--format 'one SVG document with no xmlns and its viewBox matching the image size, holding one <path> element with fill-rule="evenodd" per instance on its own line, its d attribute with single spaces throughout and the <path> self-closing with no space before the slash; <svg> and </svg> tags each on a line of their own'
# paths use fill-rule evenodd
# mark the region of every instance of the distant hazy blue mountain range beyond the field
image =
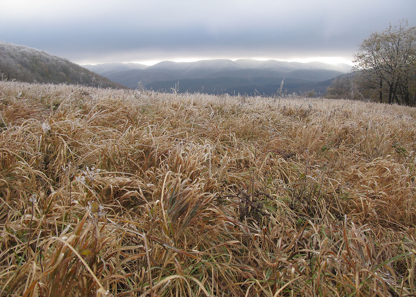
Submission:
<svg viewBox="0 0 416 297">
<path fill-rule="evenodd" d="M 282 79 L 285 79 L 283 89 L 289 94 L 312 89 L 324 93 L 331 79 L 352 69 L 348 64 L 254 59 L 163 61 L 153 66 L 107 63 L 83 67 L 132 89 L 140 82 L 146 89 L 161 91 L 171 91 L 176 86 L 179 92 L 265 95 L 275 94 Z"/>
</svg>

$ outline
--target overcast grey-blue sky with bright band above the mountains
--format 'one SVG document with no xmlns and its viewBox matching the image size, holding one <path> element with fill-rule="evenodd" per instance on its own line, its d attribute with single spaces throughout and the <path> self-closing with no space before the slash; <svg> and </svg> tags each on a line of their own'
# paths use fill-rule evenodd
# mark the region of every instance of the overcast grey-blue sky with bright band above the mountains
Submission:
<svg viewBox="0 0 416 297">
<path fill-rule="evenodd" d="M 372 31 L 416 25 L 416 0 L 0 0 L 0 40 L 77 64 L 347 62 Z"/>
</svg>

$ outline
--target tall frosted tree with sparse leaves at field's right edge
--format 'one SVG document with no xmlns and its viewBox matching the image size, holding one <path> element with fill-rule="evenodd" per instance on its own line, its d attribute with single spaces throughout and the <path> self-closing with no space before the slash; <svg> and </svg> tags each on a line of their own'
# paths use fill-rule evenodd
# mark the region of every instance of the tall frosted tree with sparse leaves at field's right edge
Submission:
<svg viewBox="0 0 416 297">
<path fill-rule="evenodd" d="M 408 21 L 371 33 L 354 55 L 357 82 L 372 89 L 380 102 L 414 105 L 416 27 Z"/>
</svg>

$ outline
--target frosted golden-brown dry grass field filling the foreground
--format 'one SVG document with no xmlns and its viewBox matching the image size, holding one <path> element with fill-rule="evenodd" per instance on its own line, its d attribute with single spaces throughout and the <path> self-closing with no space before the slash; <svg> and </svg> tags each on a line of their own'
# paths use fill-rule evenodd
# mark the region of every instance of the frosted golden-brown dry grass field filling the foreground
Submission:
<svg viewBox="0 0 416 297">
<path fill-rule="evenodd" d="M 0 82 L 0 296 L 415 296 L 416 108 Z"/>
</svg>

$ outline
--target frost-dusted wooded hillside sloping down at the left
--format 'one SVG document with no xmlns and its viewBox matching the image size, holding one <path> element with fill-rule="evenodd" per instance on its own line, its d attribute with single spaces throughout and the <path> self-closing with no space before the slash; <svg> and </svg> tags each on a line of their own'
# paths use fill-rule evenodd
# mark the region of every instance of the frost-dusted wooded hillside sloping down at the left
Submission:
<svg viewBox="0 0 416 297">
<path fill-rule="evenodd" d="M 0 41 L 0 79 L 126 88 L 67 59 L 24 45 Z"/>
</svg>

